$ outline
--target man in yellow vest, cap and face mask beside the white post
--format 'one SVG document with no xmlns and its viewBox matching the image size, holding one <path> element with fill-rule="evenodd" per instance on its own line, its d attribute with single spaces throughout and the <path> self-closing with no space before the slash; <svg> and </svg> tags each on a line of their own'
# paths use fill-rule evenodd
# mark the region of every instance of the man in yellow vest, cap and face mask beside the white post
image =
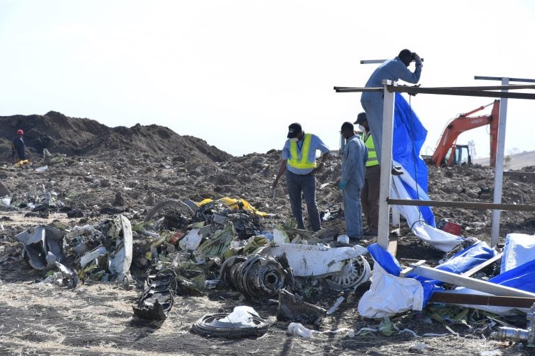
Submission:
<svg viewBox="0 0 535 356">
<path fill-rule="evenodd" d="M 364 186 L 362 187 L 360 202 L 362 204 L 362 212 L 364 213 L 364 220 L 368 229 L 364 230 L 364 236 L 377 236 L 379 227 L 379 190 L 380 190 L 380 174 L 381 168 L 379 160 L 377 159 L 377 152 L 375 152 L 375 145 L 373 145 L 373 137 L 371 136 L 370 127 L 368 125 L 368 118 L 366 113 L 359 113 L 357 121 L 364 127 L 362 133 L 362 142 L 368 148 L 368 161 L 366 161 L 366 172 L 364 174 Z"/>
</svg>

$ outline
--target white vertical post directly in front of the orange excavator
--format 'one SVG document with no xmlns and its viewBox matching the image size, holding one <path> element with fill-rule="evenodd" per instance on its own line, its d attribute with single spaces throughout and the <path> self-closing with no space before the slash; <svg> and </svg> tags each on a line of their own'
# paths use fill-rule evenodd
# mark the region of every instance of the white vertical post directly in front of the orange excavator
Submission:
<svg viewBox="0 0 535 356">
<path fill-rule="evenodd" d="M 509 78 L 502 78 L 502 86 L 509 85 Z M 508 92 L 502 89 L 502 92 Z M 502 203 L 502 183 L 504 177 L 504 150 L 505 127 L 507 122 L 507 98 L 503 97 L 499 103 L 498 145 L 496 152 L 496 165 L 494 173 L 494 200 L 495 204 Z M 499 215 L 502 211 L 493 210 L 493 226 L 490 234 L 490 247 L 495 247 L 499 240 Z"/>
</svg>

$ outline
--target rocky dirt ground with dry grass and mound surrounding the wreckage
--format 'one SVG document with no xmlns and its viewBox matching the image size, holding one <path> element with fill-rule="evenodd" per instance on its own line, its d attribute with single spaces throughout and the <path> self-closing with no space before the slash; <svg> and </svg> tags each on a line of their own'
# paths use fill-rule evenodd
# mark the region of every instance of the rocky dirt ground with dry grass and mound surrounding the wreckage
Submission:
<svg viewBox="0 0 535 356">
<path fill-rule="evenodd" d="M 369 332 L 348 337 L 346 332 L 340 332 L 301 339 L 286 334 L 288 322 L 277 321 L 276 303 L 251 302 L 237 291 L 220 286 L 194 295 L 178 295 L 166 321 L 148 322 L 134 317 L 132 312 L 148 272 L 148 266 L 139 259 L 132 268 L 136 282 L 133 289 L 91 278 L 74 289 L 43 282 L 47 271 L 29 267 L 22 258 L 22 244 L 15 239 L 15 235 L 38 225 L 68 232 L 76 227 L 98 226 L 122 214 L 136 226 L 144 222 L 157 202 L 168 198 L 201 202 L 206 198 L 233 197 L 267 213 L 259 223 L 265 231 L 272 231 L 275 225 L 288 220 L 290 207 L 284 184 L 274 193 L 270 189 L 279 167 L 277 150 L 235 157 L 203 140 L 180 136 L 165 127 L 108 128 L 93 120 L 50 112 L 42 116 L 0 118 L 0 132 L 6 135 L 0 139 L 2 152 L 9 152 L 9 133 L 20 127 L 26 132 L 31 165 L 13 168 L 6 153 L 6 165 L 0 167 L 0 197 L 9 197 L 9 204 L 3 204 L 0 211 L 2 355 L 529 354 L 529 349 L 522 345 L 490 339 L 493 330 L 485 323 L 488 319 L 474 311 L 467 314 L 467 323 L 438 323 L 426 312 L 391 318 L 398 330 L 410 329 L 415 334 L 394 332 L 387 336 Z M 52 154 L 47 159 L 42 155 L 45 148 Z M 334 184 L 340 165 L 339 158 L 333 156 L 318 174 L 318 206 L 332 213 L 333 218 L 325 221 L 323 231 L 311 238 L 332 242 L 344 232 L 343 217 L 338 214 L 341 193 Z M 521 169 L 534 170 L 534 166 Z M 502 201 L 535 204 L 534 183 L 529 175 L 505 177 Z M 432 200 L 492 202 L 493 184 L 493 170 L 486 166 L 429 168 Z M 51 196 L 54 206 L 43 208 L 43 203 L 52 202 L 47 200 Z M 490 211 L 433 211 L 437 220 L 448 218 L 459 223 L 463 236 L 490 243 Z M 501 242 L 508 233 L 533 234 L 534 229 L 531 212 L 502 211 Z M 362 241 L 362 245 L 374 242 L 375 238 L 371 238 Z M 437 261 L 442 256 L 443 252 L 419 241 L 402 223 L 398 259 Z M 301 292 L 308 291 L 302 293 L 304 300 L 325 309 L 339 296 L 345 298 L 334 314 L 309 327 L 347 327 L 358 331 L 379 326 L 380 321 L 362 318 L 357 313 L 357 302 L 367 284 L 356 291 L 332 291 L 313 280 L 300 284 Z M 308 289 L 309 285 L 313 288 Z M 190 332 L 192 323 L 203 314 L 228 313 L 238 305 L 250 305 L 267 319 L 267 334 L 219 339 Z M 526 325 L 522 318 L 508 322 L 516 323 L 517 327 Z M 442 336 L 423 337 L 426 333 Z"/>
</svg>

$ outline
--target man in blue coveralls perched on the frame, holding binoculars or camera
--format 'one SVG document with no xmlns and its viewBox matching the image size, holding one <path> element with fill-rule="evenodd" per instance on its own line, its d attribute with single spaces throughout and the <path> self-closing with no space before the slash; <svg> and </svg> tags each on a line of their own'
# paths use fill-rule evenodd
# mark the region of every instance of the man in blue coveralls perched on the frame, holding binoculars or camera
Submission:
<svg viewBox="0 0 535 356">
<path fill-rule="evenodd" d="M 414 60 L 414 72 L 408 68 L 410 63 Z M 408 83 L 416 84 L 420 80 L 421 74 L 421 59 L 416 53 L 403 49 L 399 52 L 396 58 L 385 60 L 370 76 L 366 83 L 366 88 L 382 88 L 382 81 L 387 79 L 390 81 L 398 81 L 399 79 Z M 382 106 L 383 97 L 382 92 L 362 92 L 360 103 L 366 111 L 368 117 L 368 124 L 371 129 L 371 136 L 375 143 L 375 152 L 379 163 L 381 163 L 381 144 L 382 144 Z M 397 168 L 392 169 L 392 174 L 403 174 Z"/>
</svg>

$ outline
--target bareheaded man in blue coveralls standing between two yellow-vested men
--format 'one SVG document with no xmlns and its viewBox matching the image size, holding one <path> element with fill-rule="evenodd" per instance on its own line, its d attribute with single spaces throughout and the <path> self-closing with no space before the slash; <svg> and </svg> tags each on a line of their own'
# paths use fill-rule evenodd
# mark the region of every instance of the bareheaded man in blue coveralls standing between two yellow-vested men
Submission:
<svg viewBox="0 0 535 356">
<path fill-rule="evenodd" d="M 342 172 L 338 187 L 343 194 L 343 215 L 346 219 L 346 234 L 349 238 L 362 238 L 362 209 L 360 192 L 364 186 L 364 170 L 368 159 L 368 149 L 355 134 L 351 122 L 344 122 L 340 131 L 346 139 L 343 148 Z"/>
</svg>

